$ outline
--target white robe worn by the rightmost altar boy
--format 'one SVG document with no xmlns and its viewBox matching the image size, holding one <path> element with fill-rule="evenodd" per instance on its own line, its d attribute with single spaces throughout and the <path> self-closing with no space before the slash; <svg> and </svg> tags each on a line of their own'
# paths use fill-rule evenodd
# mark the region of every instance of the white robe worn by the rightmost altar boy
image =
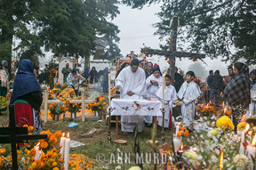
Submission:
<svg viewBox="0 0 256 170">
<path fill-rule="evenodd" d="M 192 120 L 195 118 L 195 100 L 200 97 L 201 90 L 194 81 L 191 81 L 190 83 L 185 81 L 180 87 L 177 95 L 179 99 L 182 99 L 181 115 L 183 118 L 183 123 L 186 126 L 189 126 L 192 124 Z"/>
</svg>

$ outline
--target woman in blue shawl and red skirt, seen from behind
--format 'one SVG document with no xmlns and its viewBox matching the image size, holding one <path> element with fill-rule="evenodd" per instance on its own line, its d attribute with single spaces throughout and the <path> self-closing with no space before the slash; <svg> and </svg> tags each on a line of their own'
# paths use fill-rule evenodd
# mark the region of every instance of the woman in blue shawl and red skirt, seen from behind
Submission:
<svg viewBox="0 0 256 170">
<path fill-rule="evenodd" d="M 24 59 L 19 63 L 13 83 L 10 104 L 15 105 L 16 124 L 33 125 L 34 131 L 42 131 L 40 106 L 43 102 L 42 89 L 33 74 L 31 60 Z M 25 120 L 26 119 L 26 120 Z"/>
</svg>

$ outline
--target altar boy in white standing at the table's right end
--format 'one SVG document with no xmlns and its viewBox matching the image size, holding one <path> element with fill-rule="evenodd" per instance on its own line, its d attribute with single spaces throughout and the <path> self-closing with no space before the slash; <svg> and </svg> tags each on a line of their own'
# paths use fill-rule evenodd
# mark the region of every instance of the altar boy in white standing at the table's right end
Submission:
<svg viewBox="0 0 256 170">
<path fill-rule="evenodd" d="M 164 127 L 172 127 L 172 104 L 177 101 L 177 93 L 175 90 L 175 87 L 171 85 L 171 76 L 166 75 L 165 76 L 165 84 L 164 87 Z M 163 86 L 161 86 L 157 92 L 156 96 L 159 100 L 162 101 L 163 99 Z M 163 117 L 158 117 L 158 125 L 163 125 Z"/>
</svg>

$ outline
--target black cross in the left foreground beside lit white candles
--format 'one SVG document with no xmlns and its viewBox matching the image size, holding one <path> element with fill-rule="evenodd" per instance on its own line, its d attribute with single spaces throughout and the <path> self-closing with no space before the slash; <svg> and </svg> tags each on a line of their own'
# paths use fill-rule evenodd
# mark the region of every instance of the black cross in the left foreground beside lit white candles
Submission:
<svg viewBox="0 0 256 170">
<path fill-rule="evenodd" d="M 16 127 L 14 105 L 10 104 L 10 127 L 0 128 L 0 143 L 11 143 L 12 146 L 12 169 L 18 169 L 17 143 L 32 139 L 47 139 L 47 134 L 28 134 L 28 127 Z"/>
</svg>

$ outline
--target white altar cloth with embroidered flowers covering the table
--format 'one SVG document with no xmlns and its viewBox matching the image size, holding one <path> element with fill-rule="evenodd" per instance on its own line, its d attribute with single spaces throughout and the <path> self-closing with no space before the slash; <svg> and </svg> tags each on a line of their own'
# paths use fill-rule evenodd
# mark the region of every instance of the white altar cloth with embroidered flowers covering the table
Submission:
<svg viewBox="0 0 256 170">
<path fill-rule="evenodd" d="M 111 116 L 138 115 L 161 117 L 161 102 L 145 99 L 112 99 Z"/>
</svg>

